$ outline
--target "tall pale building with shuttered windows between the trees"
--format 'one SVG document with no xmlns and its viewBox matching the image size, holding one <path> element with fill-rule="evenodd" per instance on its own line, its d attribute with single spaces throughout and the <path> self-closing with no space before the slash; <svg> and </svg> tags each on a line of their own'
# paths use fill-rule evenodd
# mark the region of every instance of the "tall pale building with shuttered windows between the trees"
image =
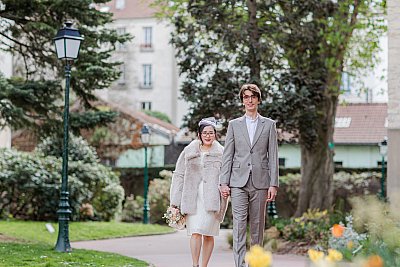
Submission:
<svg viewBox="0 0 400 267">
<path fill-rule="evenodd" d="M 98 94 L 136 110 L 162 112 L 181 126 L 188 105 L 179 99 L 178 67 L 169 43 L 172 28 L 155 17 L 150 1 L 113 0 L 100 10 L 114 14 L 109 27 L 120 34 L 129 33 L 133 39 L 117 44 L 114 59 L 123 62 L 121 76 Z"/>
</svg>

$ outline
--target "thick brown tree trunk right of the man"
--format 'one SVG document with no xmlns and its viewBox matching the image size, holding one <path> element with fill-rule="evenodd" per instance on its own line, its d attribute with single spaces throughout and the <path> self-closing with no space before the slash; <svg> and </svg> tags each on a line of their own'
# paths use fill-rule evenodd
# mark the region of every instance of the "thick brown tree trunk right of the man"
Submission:
<svg viewBox="0 0 400 267">
<path fill-rule="evenodd" d="M 325 101 L 318 123 L 318 137 L 313 147 L 300 142 L 301 183 L 296 217 L 308 209 L 330 209 L 333 197 L 333 131 L 337 98 Z M 301 136 L 301 133 L 300 133 Z M 300 137 L 301 138 L 301 137 Z"/>
</svg>

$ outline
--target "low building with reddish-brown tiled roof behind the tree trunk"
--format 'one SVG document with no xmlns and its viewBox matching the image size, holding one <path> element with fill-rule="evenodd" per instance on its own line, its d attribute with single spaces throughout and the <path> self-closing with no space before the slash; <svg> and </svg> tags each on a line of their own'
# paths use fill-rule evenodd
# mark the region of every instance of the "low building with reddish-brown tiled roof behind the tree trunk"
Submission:
<svg viewBox="0 0 400 267">
<path fill-rule="evenodd" d="M 344 168 L 377 168 L 382 165 L 379 144 L 387 136 L 386 103 L 354 103 L 338 106 L 333 135 L 334 162 Z M 279 147 L 280 165 L 299 168 L 300 147 Z"/>
</svg>

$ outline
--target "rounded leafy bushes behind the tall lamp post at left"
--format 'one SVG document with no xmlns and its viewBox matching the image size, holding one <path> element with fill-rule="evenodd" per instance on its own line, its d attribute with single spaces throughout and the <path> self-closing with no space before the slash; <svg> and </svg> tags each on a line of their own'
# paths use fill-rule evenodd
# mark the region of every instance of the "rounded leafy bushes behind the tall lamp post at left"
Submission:
<svg viewBox="0 0 400 267">
<path fill-rule="evenodd" d="M 0 150 L 0 216 L 57 218 L 61 147 L 48 138 L 33 154 Z M 121 211 L 124 197 L 118 176 L 99 163 L 93 148 L 82 138 L 72 136 L 69 151 L 69 202 L 73 219 L 80 219 L 79 211 L 87 203 L 93 206 L 92 219 L 113 219 Z"/>
</svg>

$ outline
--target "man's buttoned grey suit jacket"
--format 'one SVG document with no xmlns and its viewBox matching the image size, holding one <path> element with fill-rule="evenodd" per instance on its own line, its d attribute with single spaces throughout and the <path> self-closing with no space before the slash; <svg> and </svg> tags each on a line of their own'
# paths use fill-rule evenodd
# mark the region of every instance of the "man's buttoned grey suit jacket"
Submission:
<svg viewBox="0 0 400 267">
<path fill-rule="evenodd" d="M 252 172 L 257 189 L 279 186 L 278 142 L 275 121 L 259 115 L 253 144 L 250 144 L 246 117 L 229 122 L 220 174 L 220 184 L 243 187 Z"/>
</svg>

